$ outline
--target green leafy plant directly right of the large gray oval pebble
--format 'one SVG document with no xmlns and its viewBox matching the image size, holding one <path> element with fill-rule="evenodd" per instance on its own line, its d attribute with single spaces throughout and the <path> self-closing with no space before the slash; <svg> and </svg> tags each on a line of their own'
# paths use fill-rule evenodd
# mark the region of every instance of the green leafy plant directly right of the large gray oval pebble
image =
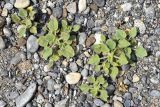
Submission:
<svg viewBox="0 0 160 107">
<path fill-rule="evenodd" d="M 66 20 L 62 20 L 60 24 L 61 26 L 55 17 L 51 17 L 43 28 L 46 34 L 38 39 L 39 45 L 43 47 L 42 57 L 45 60 L 49 59 L 50 64 L 59 60 L 61 56 L 70 58 L 75 55 L 73 33 L 78 32 L 80 26 L 70 26 Z"/>
</svg>

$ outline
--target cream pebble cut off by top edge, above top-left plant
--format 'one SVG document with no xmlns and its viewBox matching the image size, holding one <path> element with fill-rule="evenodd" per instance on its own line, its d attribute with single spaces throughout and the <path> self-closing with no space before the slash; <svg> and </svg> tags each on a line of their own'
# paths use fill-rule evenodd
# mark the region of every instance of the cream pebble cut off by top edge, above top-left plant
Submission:
<svg viewBox="0 0 160 107">
<path fill-rule="evenodd" d="M 26 8 L 30 5 L 30 0 L 16 0 L 14 6 L 16 8 Z"/>
</svg>

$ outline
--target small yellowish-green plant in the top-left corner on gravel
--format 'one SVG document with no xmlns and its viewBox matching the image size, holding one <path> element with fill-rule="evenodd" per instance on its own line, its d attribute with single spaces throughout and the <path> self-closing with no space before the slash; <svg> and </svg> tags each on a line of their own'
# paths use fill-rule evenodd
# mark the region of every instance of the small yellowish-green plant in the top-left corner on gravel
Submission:
<svg viewBox="0 0 160 107">
<path fill-rule="evenodd" d="M 14 23 L 19 24 L 17 29 L 19 37 L 25 37 L 27 32 L 37 34 L 37 23 L 34 22 L 36 11 L 33 7 L 19 9 L 18 14 L 12 14 L 11 19 Z"/>
</svg>

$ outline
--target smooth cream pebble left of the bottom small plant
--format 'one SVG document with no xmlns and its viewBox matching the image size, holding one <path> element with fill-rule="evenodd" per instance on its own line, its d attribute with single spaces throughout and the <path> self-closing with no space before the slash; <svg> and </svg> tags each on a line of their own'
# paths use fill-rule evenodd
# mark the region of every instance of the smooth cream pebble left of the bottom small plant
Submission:
<svg viewBox="0 0 160 107">
<path fill-rule="evenodd" d="M 66 75 L 66 81 L 68 84 L 76 84 L 81 79 L 81 74 L 76 72 L 71 72 Z"/>
</svg>

